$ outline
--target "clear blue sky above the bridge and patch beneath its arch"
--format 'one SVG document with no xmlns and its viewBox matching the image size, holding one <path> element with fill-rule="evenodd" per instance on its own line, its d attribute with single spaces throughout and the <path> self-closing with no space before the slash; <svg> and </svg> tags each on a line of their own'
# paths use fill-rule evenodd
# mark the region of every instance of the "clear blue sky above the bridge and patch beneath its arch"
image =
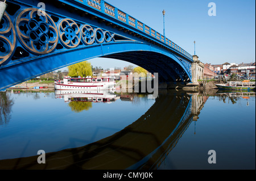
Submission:
<svg viewBox="0 0 256 181">
<path fill-rule="evenodd" d="M 255 0 L 108 0 L 111 5 L 137 18 L 199 60 L 210 64 L 255 62 Z M 216 3 L 216 16 L 209 16 L 208 3 Z M 124 67 L 128 62 L 94 58 L 93 66 Z"/>
</svg>

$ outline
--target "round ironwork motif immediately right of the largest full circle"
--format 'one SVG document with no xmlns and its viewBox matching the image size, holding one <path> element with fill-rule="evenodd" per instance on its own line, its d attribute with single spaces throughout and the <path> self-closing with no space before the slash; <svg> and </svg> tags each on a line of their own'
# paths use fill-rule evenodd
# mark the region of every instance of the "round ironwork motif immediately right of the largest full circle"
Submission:
<svg viewBox="0 0 256 181">
<path fill-rule="evenodd" d="M 68 18 L 61 20 L 59 23 L 59 36 L 61 42 L 68 48 L 77 47 L 81 40 L 79 26 Z"/>
</svg>

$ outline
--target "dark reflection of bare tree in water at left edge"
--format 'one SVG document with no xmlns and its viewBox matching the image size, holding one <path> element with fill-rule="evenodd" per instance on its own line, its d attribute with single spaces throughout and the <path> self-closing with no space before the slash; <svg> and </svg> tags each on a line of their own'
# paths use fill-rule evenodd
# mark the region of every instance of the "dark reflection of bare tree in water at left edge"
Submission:
<svg viewBox="0 0 256 181">
<path fill-rule="evenodd" d="M 8 92 L 0 92 L 0 125 L 7 125 L 9 123 L 13 104 L 13 99 L 10 98 Z"/>
</svg>

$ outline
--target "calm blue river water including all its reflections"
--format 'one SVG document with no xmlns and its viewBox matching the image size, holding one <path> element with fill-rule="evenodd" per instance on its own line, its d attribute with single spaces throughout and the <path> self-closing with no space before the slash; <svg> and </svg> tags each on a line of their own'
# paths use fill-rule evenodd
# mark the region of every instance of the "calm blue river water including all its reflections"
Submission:
<svg viewBox="0 0 256 181">
<path fill-rule="evenodd" d="M 255 169 L 255 92 L 0 94 L 0 169 Z"/>
</svg>

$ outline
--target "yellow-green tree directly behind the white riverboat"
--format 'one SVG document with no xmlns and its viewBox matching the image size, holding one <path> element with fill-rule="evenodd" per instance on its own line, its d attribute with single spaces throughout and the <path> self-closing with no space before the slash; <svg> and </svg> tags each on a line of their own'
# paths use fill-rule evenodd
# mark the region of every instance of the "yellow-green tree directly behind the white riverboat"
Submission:
<svg viewBox="0 0 256 181">
<path fill-rule="evenodd" d="M 92 65 L 90 65 L 90 62 L 87 62 L 87 61 L 69 65 L 68 66 L 68 76 L 70 76 L 70 77 L 92 76 Z"/>
</svg>

